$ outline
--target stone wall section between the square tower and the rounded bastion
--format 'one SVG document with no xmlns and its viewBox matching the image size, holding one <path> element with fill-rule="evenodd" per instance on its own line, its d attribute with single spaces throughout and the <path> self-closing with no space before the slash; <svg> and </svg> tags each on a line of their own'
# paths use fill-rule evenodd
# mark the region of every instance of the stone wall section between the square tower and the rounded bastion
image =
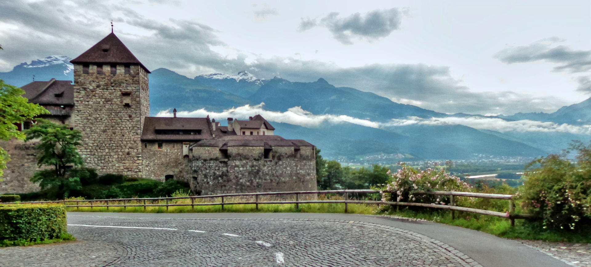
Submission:
<svg viewBox="0 0 591 267">
<path fill-rule="evenodd" d="M 175 180 L 190 183 L 189 158 L 183 157 L 183 142 L 161 143 L 162 149 L 158 149 L 158 142 L 142 143 L 144 178 L 164 181 L 164 175 L 171 174 Z"/>
</svg>

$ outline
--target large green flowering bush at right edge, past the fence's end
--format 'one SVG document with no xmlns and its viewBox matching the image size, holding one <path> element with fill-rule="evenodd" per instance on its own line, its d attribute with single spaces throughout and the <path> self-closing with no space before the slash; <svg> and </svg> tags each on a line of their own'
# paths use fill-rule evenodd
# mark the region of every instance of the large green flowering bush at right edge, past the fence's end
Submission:
<svg viewBox="0 0 591 267">
<path fill-rule="evenodd" d="M 573 150 L 578 151 L 577 162 L 567 159 Z M 591 224 L 591 145 L 575 142 L 563 155 L 537 159 L 524 176 L 521 205 L 543 218 L 544 228 L 574 230 Z"/>
</svg>

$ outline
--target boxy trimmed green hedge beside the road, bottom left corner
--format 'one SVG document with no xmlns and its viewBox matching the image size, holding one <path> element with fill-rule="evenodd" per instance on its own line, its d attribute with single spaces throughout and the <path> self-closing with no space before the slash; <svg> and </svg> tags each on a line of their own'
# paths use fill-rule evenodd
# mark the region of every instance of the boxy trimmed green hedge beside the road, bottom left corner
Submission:
<svg viewBox="0 0 591 267">
<path fill-rule="evenodd" d="M 0 205 L 0 240 L 41 241 L 64 234 L 67 224 L 63 205 Z"/>
</svg>

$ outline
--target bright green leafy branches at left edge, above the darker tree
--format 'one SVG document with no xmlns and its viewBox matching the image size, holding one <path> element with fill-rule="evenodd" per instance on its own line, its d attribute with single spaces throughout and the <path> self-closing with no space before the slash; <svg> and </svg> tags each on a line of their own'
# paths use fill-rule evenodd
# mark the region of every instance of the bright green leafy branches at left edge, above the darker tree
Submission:
<svg viewBox="0 0 591 267">
<path fill-rule="evenodd" d="M 40 114 L 48 113 L 37 104 L 28 103 L 21 95 L 25 92 L 0 80 L 0 139 L 8 141 L 12 138 L 25 139 L 25 135 L 18 131 L 15 123 L 22 123 Z M 7 152 L 0 148 L 0 177 L 9 160 Z"/>
</svg>

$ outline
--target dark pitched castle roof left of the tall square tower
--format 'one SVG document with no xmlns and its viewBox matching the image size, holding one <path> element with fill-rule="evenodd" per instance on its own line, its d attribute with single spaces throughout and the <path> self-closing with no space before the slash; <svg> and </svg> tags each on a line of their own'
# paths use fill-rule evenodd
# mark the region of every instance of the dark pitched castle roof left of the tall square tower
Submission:
<svg viewBox="0 0 591 267">
<path fill-rule="evenodd" d="M 48 105 L 74 105 L 74 85 L 71 81 L 51 79 L 32 82 L 21 87 L 29 103 Z"/>
</svg>

